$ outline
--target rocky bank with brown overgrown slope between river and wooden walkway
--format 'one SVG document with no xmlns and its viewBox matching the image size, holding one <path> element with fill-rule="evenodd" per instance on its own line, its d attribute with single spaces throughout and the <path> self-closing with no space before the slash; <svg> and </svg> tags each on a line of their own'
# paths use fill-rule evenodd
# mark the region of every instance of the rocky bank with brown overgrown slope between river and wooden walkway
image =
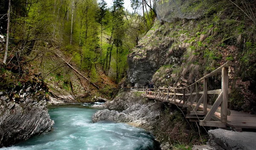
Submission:
<svg viewBox="0 0 256 150">
<path fill-rule="evenodd" d="M 93 114 L 93 122 L 106 120 L 143 127 L 154 134 L 162 150 L 172 148 L 177 141 L 185 145 L 201 143 L 195 124 L 188 124 L 176 106 L 142 98 L 140 92 L 119 93 L 100 107 L 105 110 Z M 206 133 L 201 133 L 201 137 L 207 141 Z"/>
</svg>

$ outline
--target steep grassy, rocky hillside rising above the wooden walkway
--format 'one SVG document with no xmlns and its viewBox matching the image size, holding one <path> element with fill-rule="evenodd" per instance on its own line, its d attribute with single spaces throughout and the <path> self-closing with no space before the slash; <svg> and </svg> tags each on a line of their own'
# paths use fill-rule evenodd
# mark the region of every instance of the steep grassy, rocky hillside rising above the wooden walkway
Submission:
<svg viewBox="0 0 256 150">
<path fill-rule="evenodd" d="M 199 9 L 201 2 L 191 1 L 189 6 Z M 233 61 L 229 70 L 229 108 L 255 113 L 255 0 L 212 3 L 194 19 L 155 20 L 128 55 L 126 84 L 146 86 L 153 81 L 155 87 L 185 87 Z M 208 85 L 208 89 L 220 88 L 220 77 L 209 78 Z"/>
</svg>

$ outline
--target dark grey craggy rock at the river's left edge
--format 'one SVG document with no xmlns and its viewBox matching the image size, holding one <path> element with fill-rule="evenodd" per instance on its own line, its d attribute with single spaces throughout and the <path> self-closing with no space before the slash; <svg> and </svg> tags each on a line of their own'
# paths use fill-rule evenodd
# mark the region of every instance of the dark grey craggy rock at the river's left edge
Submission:
<svg viewBox="0 0 256 150">
<path fill-rule="evenodd" d="M 0 147 L 52 130 L 43 81 L 27 83 L 11 95 L 0 92 Z"/>
</svg>

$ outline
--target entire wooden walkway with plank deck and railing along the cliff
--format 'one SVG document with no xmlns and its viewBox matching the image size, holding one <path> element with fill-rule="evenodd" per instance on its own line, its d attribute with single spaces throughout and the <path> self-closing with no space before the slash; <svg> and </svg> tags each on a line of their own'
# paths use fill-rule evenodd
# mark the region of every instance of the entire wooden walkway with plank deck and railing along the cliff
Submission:
<svg viewBox="0 0 256 150">
<path fill-rule="evenodd" d="M 228 61 L 195 83 L 184 88 L 125 87 L 130 92 L 140 91 L 143 96 L 158 102 L 167 102 L 186 110 L 189 121 L 198 121 L 201 126 L 226 128 L 241 131 L 256 129 L 256 115 L 228 110 L 228 69 L 232 61 Z M 207 91 L 207 79 L 221 73 L 221 89 Z M 202 85 L 201 85 L 202 84 Z M 207 96 L 217 97 L 212 105 L 207 103 Z"/>
</svg>

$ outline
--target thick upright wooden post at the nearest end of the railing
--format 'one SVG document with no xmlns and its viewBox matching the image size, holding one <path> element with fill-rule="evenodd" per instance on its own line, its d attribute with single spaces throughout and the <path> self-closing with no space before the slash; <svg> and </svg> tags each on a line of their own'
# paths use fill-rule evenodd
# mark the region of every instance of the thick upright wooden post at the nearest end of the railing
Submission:
<svg viewBox="0 0 256 150">
<path fill-rule="evenodd" d="M 221 122 L 227 122 L 227 101 L 228 101 L 228 68 L 222 68 L 221 90 L 223 93 L 221 104 Z"/>
</svg>

